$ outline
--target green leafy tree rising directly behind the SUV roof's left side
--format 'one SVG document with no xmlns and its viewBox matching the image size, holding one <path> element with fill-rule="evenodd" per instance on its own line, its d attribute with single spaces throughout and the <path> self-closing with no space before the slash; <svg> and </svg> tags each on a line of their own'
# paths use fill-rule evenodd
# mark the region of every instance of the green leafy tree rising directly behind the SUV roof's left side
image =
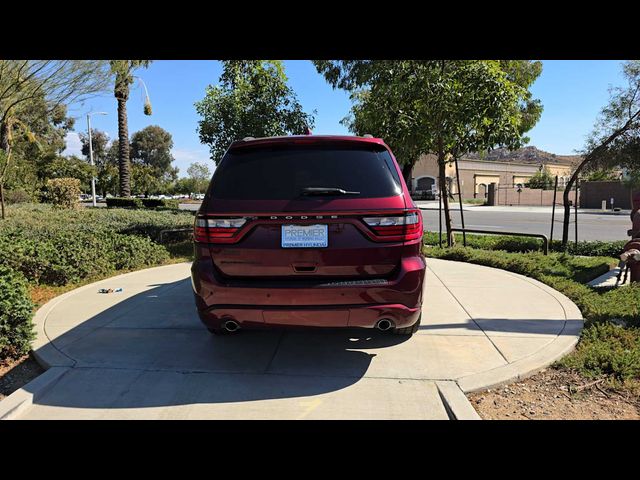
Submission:
<svg viewBox="0 0 640 480">
<path fill-rule="evenodd" d="M 244 137 L 301 135 L 313 128 L 314 114 L 302 110 L 287 85 L 284 66 L 274 60 L 225 60 L 219 85 L 209 85 L 195 107 L 200 141 L 218 162 Z"/>
</svg>

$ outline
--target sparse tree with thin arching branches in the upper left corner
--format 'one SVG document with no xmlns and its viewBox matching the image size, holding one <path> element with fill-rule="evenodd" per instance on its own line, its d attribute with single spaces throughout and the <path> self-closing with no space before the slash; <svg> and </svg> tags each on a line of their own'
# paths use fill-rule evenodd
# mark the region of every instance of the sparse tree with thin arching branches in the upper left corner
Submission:
<svg viewBox="0 0 640 480">
<path fill-rule="evenodd" d="M 28 139 L 40 146 L 25 117 L 34 102 L 47 112 L 104 91 L 108 72 L 102 61 L 0 60 L 0 205 L 5 218 L 4 184 L 12 167 L 13 146 Z"/>
</svg>

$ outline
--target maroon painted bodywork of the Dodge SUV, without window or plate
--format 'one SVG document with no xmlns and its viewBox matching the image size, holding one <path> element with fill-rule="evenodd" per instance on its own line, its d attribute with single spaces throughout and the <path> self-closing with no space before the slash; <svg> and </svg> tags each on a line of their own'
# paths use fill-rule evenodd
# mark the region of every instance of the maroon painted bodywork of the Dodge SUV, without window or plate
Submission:
<svg viewBox="0 0 640 480">
<path fill-rule="evenodd" d="M 363 146 L 354 147 L 354 142 Z M 200 241 L 195 243 L 192 282 L 204 324 L 213 330 L 227 320 L 236 321 L 242 328 L 371 328 L 384 318 L 397 328 L 413 325 L 421 312 L 426 267 L 421 252 L 422 217 L 388 147 L 374 138 L 293 136 L 235 142 L 227 155 L 273 145 L 288 148 L 285 145 L 291 144 L 303 145 L 296 148 L 321 144 L 329 149 L 333 145 L 369 148 L 367 144 L 373 144 L 371 148 L 383 149 L 393 161 L 399 183 L 397 194 L 378 198 L 216 199 L 211 192 L 214 176 L 198 218 L 206 222 L 241 217 L 246 223 L 226 230 L 207 227 L 221 236 L 213 239 L 207 237 L 206 228 L 196 228 L 195 236 Z M 363 221 L 415 211 L 419 225 L 413 225 L 412 234 L 408 234 L 408 225 L 376 231 Z M 326 224 L 328 247 L 282 248 L 281 226 L 289 224 Z"/>
</svg>

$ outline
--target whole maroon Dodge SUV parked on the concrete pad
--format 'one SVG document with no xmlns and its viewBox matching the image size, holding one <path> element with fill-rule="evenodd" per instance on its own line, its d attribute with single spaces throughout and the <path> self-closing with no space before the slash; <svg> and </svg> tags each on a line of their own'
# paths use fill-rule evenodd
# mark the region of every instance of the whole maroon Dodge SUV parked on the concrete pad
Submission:
<svg viewBox="0 0 640 480">
<path fill-rule="evenodd" d="M 194 227 L 191 268 L 213 333 L 260 326 L 420 325 L 422 216 L 379 138 L 231 144 Z"/>
</svg>

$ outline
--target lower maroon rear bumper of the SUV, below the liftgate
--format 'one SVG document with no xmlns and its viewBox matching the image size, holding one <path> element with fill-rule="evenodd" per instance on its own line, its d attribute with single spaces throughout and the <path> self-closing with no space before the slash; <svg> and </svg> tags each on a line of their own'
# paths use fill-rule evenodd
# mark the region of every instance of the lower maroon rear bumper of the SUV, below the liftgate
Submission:
<svg viewBox="0 0 640 480">
<path fill-rule="evenodd" d="M 210 258 L 198 258 L 191 279 L 200 319 L 208 328 L 227 320 L 242 327 L 374 327 L 383 318 L 396 327 L 413 325 L 420 316 L 425 261 L 402 260 L 394 278 L 374 282 L 225 283 Z"/>
</svg>

